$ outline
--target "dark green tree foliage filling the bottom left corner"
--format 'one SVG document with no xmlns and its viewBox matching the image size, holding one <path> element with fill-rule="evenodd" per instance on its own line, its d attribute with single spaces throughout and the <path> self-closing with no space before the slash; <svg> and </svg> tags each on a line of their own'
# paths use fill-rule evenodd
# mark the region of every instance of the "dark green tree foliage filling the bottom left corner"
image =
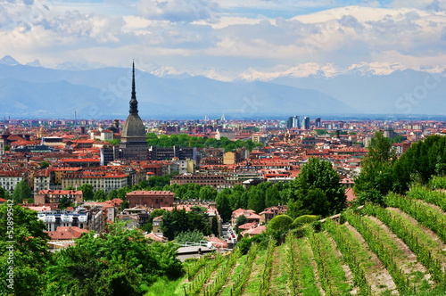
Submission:
<svg viewBox="0 0 446 296">
<path fill-rule="evenodd" d="M 37 211 L 21 206 L 0 205 L 0 291 L 3 295 L 43 295 L 45 287 L 45 266 L 51 263 L 51 253 L 46 243 L 50 240 L 45 234 L 46 227 L 37 219 Z M 7 243 L 13 241 L 14 243 Z M 12 247 L 13 258 L 6 249 Z M 7 272 L 13 267 L 13 283 Z M 13 290 L 8 288 L 12 284 Z"/>
</svg>

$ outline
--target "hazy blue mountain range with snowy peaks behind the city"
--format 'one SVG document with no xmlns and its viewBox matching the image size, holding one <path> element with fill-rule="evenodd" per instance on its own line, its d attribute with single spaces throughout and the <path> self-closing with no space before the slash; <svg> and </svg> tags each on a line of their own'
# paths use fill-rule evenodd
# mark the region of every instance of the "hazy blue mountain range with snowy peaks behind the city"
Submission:
<svg viewBox="0 0 446 296">
<path fill-rule="evenodd" d="M 11 56 L 0 60 L 0 116 L 13 118 L 124 119 L 128 115 L 131 68 L 98 68 L 65 63 L 44 68 Z M 310 67 L 310 66 L 308 66 Z M 307 68 L 308 68 L 307 67 Z M 187 73 L 137 70 L 136 97 L 143 118 L 285 118 L 292 115 L 434 114 L 446 107 L 444 71 L 393 67 L 392 71 L 239 76 L 219 81 Z M 322 69 L 323 70 L 323 69 Z M 161 73 L 161 74 L 160 74 Z M 384 74 L 383 74 L 384 73 Z M 407 95 L 409 94 L 409 95 Z"/>
</svg>

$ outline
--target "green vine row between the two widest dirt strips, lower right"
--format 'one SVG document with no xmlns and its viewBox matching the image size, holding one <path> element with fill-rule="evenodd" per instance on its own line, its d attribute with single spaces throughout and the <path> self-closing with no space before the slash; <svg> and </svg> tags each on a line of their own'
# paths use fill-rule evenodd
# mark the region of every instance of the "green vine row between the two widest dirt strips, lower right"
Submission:
<svg viewBox="0 0 446 296">
<path fill-rule="evenodd" d="M 358 214 L 347 210 L 343 217 L 347 219 L 351 226 L 361 234 L 364 240 L 368 243 L 368 248 L 375 252 L 376 256 L 383 262 L 384 267 L 392 275 L 393 282 L 398 287 L 401 294 L 409 290 L 407 285 L 406 275 L 401 274 L 400 266 L 395 260 L 395 254 L 401 251 L 398 246 L 393 243 L 392 239 L 385 234 L 384 230 L 378 232 L 381 226 L 372 223 L 369 218 L 364 218 Z"/>
</svg>

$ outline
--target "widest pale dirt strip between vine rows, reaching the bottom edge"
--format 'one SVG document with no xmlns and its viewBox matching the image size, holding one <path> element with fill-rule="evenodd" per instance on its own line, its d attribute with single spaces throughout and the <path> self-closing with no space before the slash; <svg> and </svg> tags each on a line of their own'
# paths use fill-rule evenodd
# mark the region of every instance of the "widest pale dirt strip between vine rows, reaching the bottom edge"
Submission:
<svg viewBox="0 0 446 296">
<path fill-rule="evenodd" d="M 373 267 L 365 270 L 368 284 L 372 286 L 372 292 L 376 295 L 380 295 L 382 292 L 385 292 L 385 290 L 389 290 L 392 292 L 392 295 L 398 295 L 399 292 L 396 288 L 396 284 L 393 282 L 392 276 L 387 271 L 387 268 L 384 267 L 383 262 L 381 262 L 376 254 L 368 248 L 368 243 L 364 240 L 362 235 L 359 234 L 355 227 L 351 226 L 348 222 L 345 223 L 345 226 L 355 235 L 359 243 L 362 244 L 362 247 L 368 251 L 370 260 L 374 263 Z"/>
</svg>

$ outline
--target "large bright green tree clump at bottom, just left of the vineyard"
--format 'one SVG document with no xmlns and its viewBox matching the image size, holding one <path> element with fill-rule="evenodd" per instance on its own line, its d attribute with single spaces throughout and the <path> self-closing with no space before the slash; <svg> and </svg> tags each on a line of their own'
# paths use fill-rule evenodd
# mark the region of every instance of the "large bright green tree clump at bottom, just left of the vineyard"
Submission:
<svg viewBox="0 0 446 296">
<path fill-rule="evenodd" d="M 119 224 L 109 229 L 96 238 L 83 235 L 57 254 L 47 270 L 48 295 L 142 295 L 159 277 L 182 274 L 174 244 L 148 244 L 141 232 Z"/>
</svg>

